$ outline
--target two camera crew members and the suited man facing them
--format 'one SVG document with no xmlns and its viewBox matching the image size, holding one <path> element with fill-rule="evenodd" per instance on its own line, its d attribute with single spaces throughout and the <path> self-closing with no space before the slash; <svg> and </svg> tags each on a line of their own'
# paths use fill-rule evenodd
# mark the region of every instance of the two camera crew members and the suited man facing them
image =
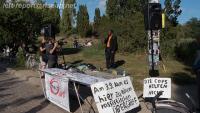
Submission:
<svg viewBox="0 0 200 113">
<path fill-rule="evenodd" d="M 114 68 L 115 63 L 115 53 L 118 49 L 117 37 L 114 35 L 113 30 L 110 30 L 108 37 L 104 41 L 105 47 L 105 56 L 106 56 L 106 67 Z M 55 68 L 57 67 L 58 61 L 58 42 L 55 40 L 55 37 L 42 37 L 40 44 L 40 62 L 43 67 Z"/>
</svg>

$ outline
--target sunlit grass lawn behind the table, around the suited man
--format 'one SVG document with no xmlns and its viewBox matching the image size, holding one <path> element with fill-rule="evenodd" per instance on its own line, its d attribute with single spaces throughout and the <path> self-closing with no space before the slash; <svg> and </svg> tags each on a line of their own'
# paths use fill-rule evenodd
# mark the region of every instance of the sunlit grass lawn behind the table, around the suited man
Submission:
<svg viewBox="0 0 200 113">
<path fill-rule="evenodd" d="M 94 46 L 90 48 L 83 48 L 81 50 L 75 50 L 72 48 L 65 48 L 65 60 L 66 62 L 81 61 L 82 63 L 91 63 L 97 68 L 105 68 L 105 56 L 104 50 L 100 46 Z M 76 52 L 74 52 L 76 51 Z M 60 59 L 61 60 L 61 59 Z M 61 60 L 62 61 L 62 60 Z M 136 90 L 142 90 L 142 81 L 148 76 L 148 62 L 147 56 L 128 54 L 123 55 L 116 54 L 115 61 L 119 63 L 118 68 L 126 70 L 130 76 L 133 77 L 133 85 Z M 191 68 L 182 64 L 174 59 L 164 59 L 166 71 L 160 66 L 160 76 L 171 77 L 177 84 L 189 84 L 194 83 L 194 75 L 191 74 Z"/>
</svg>

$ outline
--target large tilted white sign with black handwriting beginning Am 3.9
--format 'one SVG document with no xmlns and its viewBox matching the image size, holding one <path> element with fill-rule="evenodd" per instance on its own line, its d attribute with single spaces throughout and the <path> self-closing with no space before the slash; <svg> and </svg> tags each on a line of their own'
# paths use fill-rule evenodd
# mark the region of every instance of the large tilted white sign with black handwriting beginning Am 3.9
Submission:
<svg viewBox="0 0 200 113">
<path fill-rule="evenodd" d="M 139 106 L 130 77 L 91 85 L 99 113 L 125 113 Z"/>
</svg>

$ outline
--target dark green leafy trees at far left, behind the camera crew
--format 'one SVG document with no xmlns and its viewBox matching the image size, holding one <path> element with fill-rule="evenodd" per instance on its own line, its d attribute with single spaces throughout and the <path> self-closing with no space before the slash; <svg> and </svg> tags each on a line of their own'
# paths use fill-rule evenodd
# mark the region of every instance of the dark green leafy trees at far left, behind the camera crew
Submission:
<svg viewBox="0 0 200 113">
<path fill-rule="evenodd" d="M 13 2 L 30 4 L 25 1 Z M 36 3 L 44 3 L 42 0 Z M 35 44 L 38 35 L 45 24 L 59 25 L 59 10 L 57 8 L 0 8 L 0 47 L 5 45 L 21 46 Z M 57 27 L 58 28 L 58 27 Z M 57 32 L 59 29 L 57 29 Z"/>
</svg>

